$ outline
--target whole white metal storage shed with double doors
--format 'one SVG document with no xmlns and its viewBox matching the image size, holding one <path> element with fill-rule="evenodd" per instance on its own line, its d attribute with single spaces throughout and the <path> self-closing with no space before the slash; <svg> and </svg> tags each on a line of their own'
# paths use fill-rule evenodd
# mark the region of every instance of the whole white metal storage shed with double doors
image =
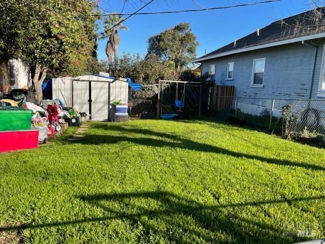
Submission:
<svg viewBox="0 0 325 244">
<path fill-rule="evenodd" d="M 113 119 L 111 103 L 127 104 L 128 83 L 124 78 L 90 74 L 52 79 L 52 98 L 59 98 L 66 106 L 86 112 L 90 120 Z"/>
</svg>

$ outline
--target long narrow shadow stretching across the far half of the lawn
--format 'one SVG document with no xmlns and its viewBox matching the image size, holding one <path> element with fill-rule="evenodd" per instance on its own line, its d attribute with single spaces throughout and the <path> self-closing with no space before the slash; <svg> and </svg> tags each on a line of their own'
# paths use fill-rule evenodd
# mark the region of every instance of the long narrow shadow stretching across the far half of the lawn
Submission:
<svg viewBox="0 0 325 244">
<path fill-rule="evenodd" d="M 237 151 L 232 151 L 229 149 L 225 149 L 218 146 L 213 146 L 206 143 L 196 142 L 192 140 L 188 140 L 182 138 L 178 135 L 161 133 L 156 131 L 151 131 L 147 129 L 139 129 L 139 128 L 125 128 L 119 125 L 107 125 L 107 124 L 95 124 L 92 125 L 93 128 L 109 130 L 109 131 L 118 131 L 121 132 L 120 135 L 92 135 L 88 134 L 84 138 L 73 142 L 73 143 L 81 143 L 81 144 L 90 144 L 90 145 L 98 145 L 98 144 L 114 144 L 122 141 L 132 142 L 139 145 L 145 146 L 154 146 L 154 147 L 176 147 L 181 149 L 189 149 L 200 152 L 207 153 L 215 153 L 215 154 L 224 154 L 228 156 L 232 156 L 235 158 L 245 158 L 249 160 L 258 160 L 269 164 L 281 165 L 281 166 L 294 166 L 301 167 L 305 169 L 312 170 L 325 170 L 325 167 L 319 165 L 312 165 L 308 163 L 301 162 L 292 162 L 289 160 L 276 159 L 276 158 L 267 158 L 259 155 L 250 155 L 245 153 L 240 153 Z M 142 135 L 142 137 L 132 137 L 132 136 L 123 136 L 123 134 L 127 133 L 135 133 Z M 161 137 L 162 139 L 155 139 L 146 136 L 155 136 Z M 166 141 L 164 138 L 168 138 L 172 141 Z"/>
</svg>

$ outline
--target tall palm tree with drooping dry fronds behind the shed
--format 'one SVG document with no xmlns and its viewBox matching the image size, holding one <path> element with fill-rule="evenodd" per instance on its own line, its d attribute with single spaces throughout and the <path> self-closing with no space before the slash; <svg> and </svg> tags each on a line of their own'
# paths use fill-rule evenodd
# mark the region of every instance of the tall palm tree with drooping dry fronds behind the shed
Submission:
<svg viewBox="0 0 325 244">
<path fill-rule="evenodd" d="M 121 15 L 110 15 L 108 18 L 104 19 L 104 35 L 103 38 L 107 38 L 105 52 L 108 57 L 109 63 L 112 62 L 112 56 L 114 55 L 114 62 L 117 63 L 117 48 L 120 44 L 120 37 L 118 36 L 118 31 L 126 31 L 127 27 L 121 23 L 123 18 Z"/>
</svg>

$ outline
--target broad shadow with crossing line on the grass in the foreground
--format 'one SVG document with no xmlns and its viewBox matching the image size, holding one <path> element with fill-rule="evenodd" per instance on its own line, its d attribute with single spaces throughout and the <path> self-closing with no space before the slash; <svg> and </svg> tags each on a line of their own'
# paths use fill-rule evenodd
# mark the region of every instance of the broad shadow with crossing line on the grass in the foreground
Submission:
<svg viewBox="0 0 325 244">
<path fill-rule="evenodd" d="M 224 239 L 222 237 L 218 239 L 219 243 L 293 242 L 298 240 L 297 237 L 283 235 L 286 230 L 239 217 L 232 214 L 234 212 L 231 211 L 232 208 L 323 200 L 325 196 L 224 205 L 205 205 L 166 191 L 81 195 L 77 196 L 77 199 L 94 207 L 101 207 L 104 210 L 103 217 L 6 226 L 0 227 L 0 231 L 58 227 L 118 219 L 127 221 L 135 227 L 141 224 L 145 229 L 145 235 L 147 235 L 142 237 L 148 238 L 148 241 L 149 235 L 153 233 L 176 243 L 192 243 L 195 240 L 214 242 L 220 236 L 223 236 Z M 116 210 L 117 208 L 122 210 Z"/>
</svg>

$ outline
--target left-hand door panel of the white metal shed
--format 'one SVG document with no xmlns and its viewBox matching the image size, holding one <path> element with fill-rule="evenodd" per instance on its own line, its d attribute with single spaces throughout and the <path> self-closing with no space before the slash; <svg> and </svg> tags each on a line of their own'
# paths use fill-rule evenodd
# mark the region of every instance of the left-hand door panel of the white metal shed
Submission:
<svg viewBox="0 0 325 244">
<path fill-rule="evenodd" d="M 87 113 L 89 119 L 89 82 L 88 81 L 74 81 L 73 83 L 73 106 L 79 112 Z"/>
</svg>

